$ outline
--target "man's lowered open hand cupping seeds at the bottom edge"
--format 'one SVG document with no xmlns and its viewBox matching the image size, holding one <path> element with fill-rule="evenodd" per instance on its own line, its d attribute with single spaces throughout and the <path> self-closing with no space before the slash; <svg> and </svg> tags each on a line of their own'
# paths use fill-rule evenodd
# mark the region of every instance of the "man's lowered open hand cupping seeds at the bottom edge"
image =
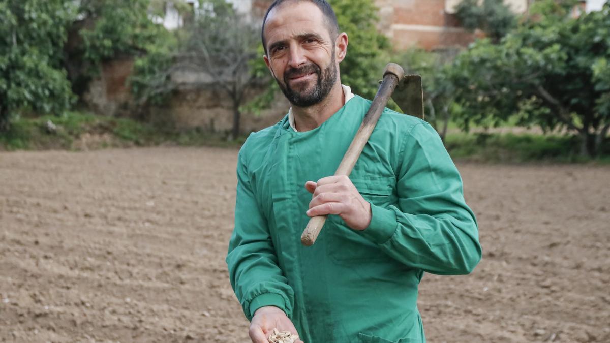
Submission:
<svg viewBox="0 0 610 343">
<path fill-rule="evenodd" d="M 296 332 L 295 325 L 290 321 L 288 316 L 275 306 L 263 306 L 254 311 L 254 317 L 250 323 L 248 334 L 252 343 L 268 343 L 269 336 L 273 333 L 273 328 L 278 331 L 290 331 L 292 334 Z M 298 343 L 303 343 L 299 340 Z"/>
</svg>

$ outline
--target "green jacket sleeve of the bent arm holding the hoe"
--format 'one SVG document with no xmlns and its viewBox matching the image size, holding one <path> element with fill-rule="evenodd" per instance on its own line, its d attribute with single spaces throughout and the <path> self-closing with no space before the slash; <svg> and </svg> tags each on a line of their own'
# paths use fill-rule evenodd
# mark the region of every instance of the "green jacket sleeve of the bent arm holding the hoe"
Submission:
<svg viewBox="0 0 610 343">
<path fill-rule="evenodd" d="M 439 135 L 427 123 L 415 125 L 400 156 L 398 203 L 371 203 L 371 222 L 361 234 L 409 267 L 439 275 L 472 272 L 481 259 L 478 225 Z"/>
</svg>

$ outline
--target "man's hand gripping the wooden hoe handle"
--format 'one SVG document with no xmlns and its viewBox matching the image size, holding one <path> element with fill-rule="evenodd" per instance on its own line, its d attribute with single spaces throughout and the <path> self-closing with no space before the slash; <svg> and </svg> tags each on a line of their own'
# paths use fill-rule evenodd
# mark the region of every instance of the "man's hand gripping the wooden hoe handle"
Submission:
<svg viewBox="0 0 610 343">
<path fill-rule="evenodd" d="M 337 214 L 350 228 L 362 231 L 371 222 L 371 204 L 362 198 L 347 176 L 328 176 L 318 182 L 307 181 L 305 188 L 312 193 L 307 215 Z"/>
</svg>

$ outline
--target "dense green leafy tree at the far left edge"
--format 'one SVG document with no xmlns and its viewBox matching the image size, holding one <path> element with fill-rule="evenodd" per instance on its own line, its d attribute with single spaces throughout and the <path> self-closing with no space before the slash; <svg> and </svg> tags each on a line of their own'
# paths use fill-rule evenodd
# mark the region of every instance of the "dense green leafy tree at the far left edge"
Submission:
<svg viewBox="0 0 610 343">
<path fill-rule="evenodd" d="M 61 67 L 70 1 L 0 2 L 0 131 L 24 111 L 61 114 L 73 102 Z"/>
</svg>

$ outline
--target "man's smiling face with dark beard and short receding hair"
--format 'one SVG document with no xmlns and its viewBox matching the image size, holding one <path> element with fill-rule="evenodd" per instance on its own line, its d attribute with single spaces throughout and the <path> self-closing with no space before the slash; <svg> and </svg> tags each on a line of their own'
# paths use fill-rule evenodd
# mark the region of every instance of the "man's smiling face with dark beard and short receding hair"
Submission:
<svg viewBox="0 0 610 343">
<path fill-rule="evenodd" d="M 309 1 L 285 2 L 269 13 L 265 63 L 293 105 L 320 103 L 336 84 L 335 38 L 321 10 Z"/>
</svg>

